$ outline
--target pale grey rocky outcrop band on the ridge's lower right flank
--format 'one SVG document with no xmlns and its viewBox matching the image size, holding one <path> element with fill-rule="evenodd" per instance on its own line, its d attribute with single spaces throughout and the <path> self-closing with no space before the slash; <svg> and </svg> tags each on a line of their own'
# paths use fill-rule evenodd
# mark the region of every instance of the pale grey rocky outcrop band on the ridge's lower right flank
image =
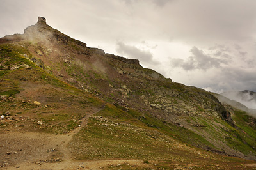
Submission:
<svg viewBox="0 0 256 170">
<path fill-rule="evenodd" d="M 151 108 L 151 112 L 154 112 L 155 116 L 173 123 L 181 121 L 179 116 L 201 116 L 204 118 L 214 116 L 227 121 L 230 125 L 234 125 L 230 112 L 228 112 L 216 98 L 211 95 L 208 96 L 205 91 L 195 94 L 194 91 L 186 88 L 186 86 L 177 88 L 177 84 L 172 84 L 172 86 L 168 88 L 163 86 L 159 87 L 149 82 L 147 86 L 145 86 L 145 84 L 140 83 L 136 88 L 122 85 L 122 88 L 118 91 L 121 92 L 124 99 L 132 100 L 133 102 L 135 100 L 137 103 L 141 103 L 140 107 L 137 107 L 137 109 L 144 108 L 148 110 L 148 108 Z M 134 96 L 136 91 L 140 93 L 141 90 L 144 91 L 141 95 Z M 131 98 L 131 96 L 133 98 Z M 211 100 L 209 100 L 209 97 Z"/>
</svg>

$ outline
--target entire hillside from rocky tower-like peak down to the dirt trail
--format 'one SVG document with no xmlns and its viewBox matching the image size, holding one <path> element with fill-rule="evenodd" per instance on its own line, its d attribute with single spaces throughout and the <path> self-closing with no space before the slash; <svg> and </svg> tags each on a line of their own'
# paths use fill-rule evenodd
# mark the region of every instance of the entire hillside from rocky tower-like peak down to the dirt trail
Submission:
<svg viewBox="0 0 256 170">
<path fill-rule="evenodd" d="M 0 84 L 3 169 L 255 168 L 255 118 L 43 17 L 0 38 Z"/>
</svg>

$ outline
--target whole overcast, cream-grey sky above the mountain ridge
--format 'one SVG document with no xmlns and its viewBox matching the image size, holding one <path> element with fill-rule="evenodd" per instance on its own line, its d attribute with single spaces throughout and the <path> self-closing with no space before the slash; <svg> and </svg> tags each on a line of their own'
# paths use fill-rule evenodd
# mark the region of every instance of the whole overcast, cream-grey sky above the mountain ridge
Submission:
<svg viewBox="0 0 256 170">
<path fill-rule="evenodd" d="M 0 37 L 38 16 L 105 52 L 139 59 L 175 82 L 256 91 L 255 0 L 0 0 Z"/>
</svg>

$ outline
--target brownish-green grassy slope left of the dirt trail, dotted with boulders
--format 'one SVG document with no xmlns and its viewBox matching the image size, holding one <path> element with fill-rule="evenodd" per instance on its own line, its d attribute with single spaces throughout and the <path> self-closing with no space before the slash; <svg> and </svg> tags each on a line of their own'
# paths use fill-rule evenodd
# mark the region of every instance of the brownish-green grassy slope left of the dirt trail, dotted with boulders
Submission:
<svg viewBox="0 0 256 170">
<path fill-rule="evenodd" d="M 0 95 L 10 97 L 1 100 L 0 110 L 2 114 L 9 111 L 13 116 L 17 115 L 16 120 L 6 121 L 1 127 L 15 130 L 13 127 L 25 123 L 28 125 L 25 130 L 63 134 L 77 127 L 78 120 L 86 112 L 102 105 L 101 100 L 60 81 L 24 58 L 23 54 L 29 54 L 25 47 L 2 44 L 0 48 Z M 18 68 L 10 70 L 13 66 Z M 13 98 L 15 95 L 17 98 Z M 34 104 L 35 100 L 42 104 Z M 26 119 L 21 121 L 19 116 Z M 38 126 L 38 121 L 42 121 L 44 126 Z"/>
</svg>

